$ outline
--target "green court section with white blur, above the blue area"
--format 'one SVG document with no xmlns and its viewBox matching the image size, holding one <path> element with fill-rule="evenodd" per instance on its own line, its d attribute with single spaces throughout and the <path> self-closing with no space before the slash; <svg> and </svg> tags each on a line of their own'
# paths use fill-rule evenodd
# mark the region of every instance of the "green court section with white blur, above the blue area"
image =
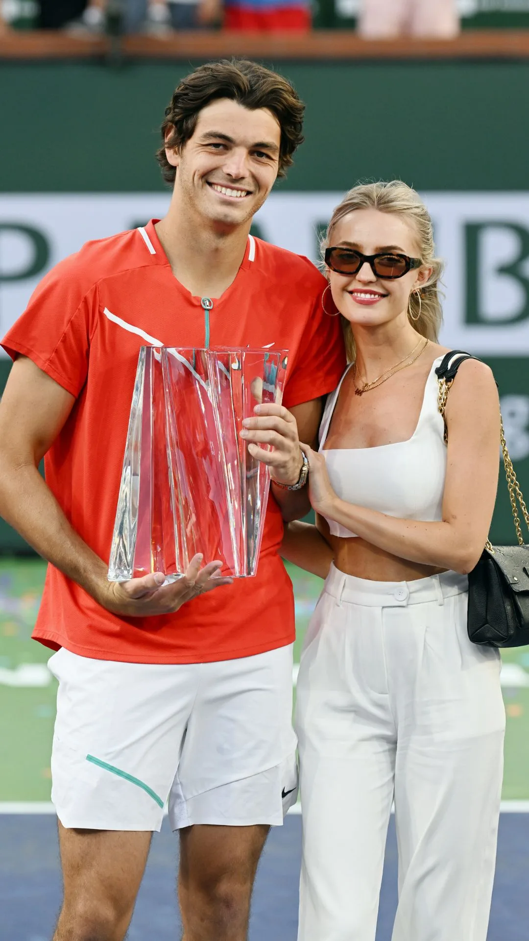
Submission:
<svg viewBox="0 0 529 941">
<path fill-rule="evenodd" d="M 323 582 L 295 566 L 288 571 L 296 596 L 298 662 Z M 51 651 L 30 640 L 44 573 L 40 559 L 0 560 L 0 802 L 50 799 L 56 682 L 45 665 Z M 502 685 L 507 714 L 503 796 L 528 800 L 529 649 L 505 653 Z"/>
</svg>

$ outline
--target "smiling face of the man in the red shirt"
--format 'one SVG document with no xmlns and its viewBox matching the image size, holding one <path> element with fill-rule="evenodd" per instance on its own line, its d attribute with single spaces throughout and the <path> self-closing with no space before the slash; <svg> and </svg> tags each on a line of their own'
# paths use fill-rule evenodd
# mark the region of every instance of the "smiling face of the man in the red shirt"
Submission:
<svg viewBox="0 0 529 941">
<path fill-rule="evenodd" d="M 250 111 L 226 98 L 208 104 L 181 151 L 167 151 L 177 167 L 175 195 L 204 220 L 244 224 L 275 183 L 280 142 L 280 124 L 267 109 Z"/>
</svg>

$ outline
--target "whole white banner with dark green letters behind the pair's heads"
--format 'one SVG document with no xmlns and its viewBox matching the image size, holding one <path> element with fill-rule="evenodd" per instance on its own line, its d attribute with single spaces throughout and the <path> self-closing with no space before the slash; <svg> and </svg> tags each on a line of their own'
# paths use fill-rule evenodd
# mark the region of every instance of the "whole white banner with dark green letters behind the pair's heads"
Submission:
<svg viewBox="0 0 529 941">
<path fill-rule="evenodd" d="M 255 231 L 314 262 L 342 193 L 272 193 Z M 0 195 L 0 334 L 36 285 L 89 239 L 164 215 L 169 195 Z M 529 194 L 427 193 L 446 261 L 441 340 L 476 355 L 529 355 Z"/>
</svg>

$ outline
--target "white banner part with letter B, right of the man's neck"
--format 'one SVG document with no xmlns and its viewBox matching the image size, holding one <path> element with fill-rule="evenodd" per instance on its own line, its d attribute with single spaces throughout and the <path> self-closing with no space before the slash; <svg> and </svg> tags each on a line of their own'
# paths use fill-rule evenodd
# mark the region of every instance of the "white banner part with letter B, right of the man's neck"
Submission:
<svg viewBox="0 0 529 941">
<path fill-rule="evenodd" d="M 317 258 L 317 232 L 340 193 L 272 194 L 256 215 L 265 238 Z M 529 195 L 426 193 L 446 262 L 441 341 L 476 355 L 529 354 Z"/>
</svg>

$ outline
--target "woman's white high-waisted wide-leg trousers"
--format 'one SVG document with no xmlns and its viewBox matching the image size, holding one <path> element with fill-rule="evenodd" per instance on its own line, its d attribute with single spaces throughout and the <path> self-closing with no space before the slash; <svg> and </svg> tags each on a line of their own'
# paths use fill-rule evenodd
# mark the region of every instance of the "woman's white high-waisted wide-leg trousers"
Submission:
<svg viewBox="0 0 529 941">
<path fill-rule="evenodd" d="M 467 584 L 331 568 L 297 678 L 298 941 L 375 941 L 393 799 L 393 941 L 486 941 L 505 710 L 498 651 L 467 636 Z"/>
</svg>

